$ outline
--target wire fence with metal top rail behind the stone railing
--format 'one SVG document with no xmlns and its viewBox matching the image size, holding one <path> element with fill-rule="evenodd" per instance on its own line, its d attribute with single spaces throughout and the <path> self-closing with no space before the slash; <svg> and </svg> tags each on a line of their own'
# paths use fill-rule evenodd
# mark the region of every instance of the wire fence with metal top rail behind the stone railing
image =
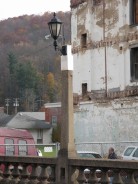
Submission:
<svg viewBox="0 0 138 184">
<path fill-rule="evenodd" d="M 121 156 L 124 149 L 127 146 L 138 146 L 138 141 L 121 141 L 121 142 L 79 142 L 75 143 L 77 151 L 93 151 L 101 154 L 102 157 L 107 157 L 108 150 L 110 147 L 115 149 L 118 156 Z M 10 150 L 13 145 L 11 144 L 0 144 L 0 148 L 5 146 L 5 149 Z M 60 143 L 51 144 L 14 144 L 24 148 L 24 146 L 35 146 L 41 151 L 44 157 L 57 157 L 60 149 Z"/>
</svg>

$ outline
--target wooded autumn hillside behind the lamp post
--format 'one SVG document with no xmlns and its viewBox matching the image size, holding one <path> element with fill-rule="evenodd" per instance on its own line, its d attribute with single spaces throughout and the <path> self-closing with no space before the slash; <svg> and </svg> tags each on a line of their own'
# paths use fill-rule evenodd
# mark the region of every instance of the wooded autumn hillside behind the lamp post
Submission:
<svg viewBox="0 0 138 184">
<path fill-rule="evenodd" d="M 9 112 L 19 101 L 18 111 L 37 111 L 46 102 L 60 100 L 60 56 L 49 35 L 53 13 L 24 15 L 0 22 L 0 104 L 9 99 Z M 58 12 L 64 23 L 65 41 L 70 42 L 70 12 Z M 61 43 L 61 39 L 59 40 Z"/>
</svg>

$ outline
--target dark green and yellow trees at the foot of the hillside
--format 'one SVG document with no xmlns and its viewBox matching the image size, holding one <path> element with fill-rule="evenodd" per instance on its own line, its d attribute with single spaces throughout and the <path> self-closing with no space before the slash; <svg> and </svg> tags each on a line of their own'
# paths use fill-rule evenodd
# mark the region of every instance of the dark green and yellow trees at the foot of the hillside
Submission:
<svg viewBox="0 0 138 184">
<path fill-rule="evenodd" d="M 58 84 L 52 72 L 42 74 L 31 62 L 18 61 L 13 53 L 8 54 L 8 62 L 10 74 L 8 97 L 18 98 L 21 110 L 37 110 L 40 100 L 41 105 L 42 101 L 43 103 L 56 101 L 59 94 L 56 88 Z"/>
</svg>

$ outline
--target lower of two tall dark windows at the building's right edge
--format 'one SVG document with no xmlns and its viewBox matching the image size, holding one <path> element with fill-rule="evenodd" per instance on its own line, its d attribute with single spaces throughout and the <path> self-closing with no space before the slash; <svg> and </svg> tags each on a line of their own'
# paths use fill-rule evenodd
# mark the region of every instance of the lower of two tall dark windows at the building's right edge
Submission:
<svg viewBox="0 0 138 184">
<path fill-rule="evenodd" d="M 130 53 L 130 62 L 131 62 L 131 80 L 138 80 L 138 47 L 131 48 Z"/>
</svg>

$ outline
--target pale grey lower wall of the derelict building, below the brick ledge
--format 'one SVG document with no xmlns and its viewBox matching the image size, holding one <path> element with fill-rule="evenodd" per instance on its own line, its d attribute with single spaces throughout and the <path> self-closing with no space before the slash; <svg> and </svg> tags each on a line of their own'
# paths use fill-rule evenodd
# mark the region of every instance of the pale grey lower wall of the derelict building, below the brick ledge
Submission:
<svg viewBox="0 0 138 184">
<path fill-rule="evenodd" d="M 80 103 L 74 114 L 74 126 L 76 143 L 138 142 L 138 98 Z M 80 150 L 101 152 L 97 145 L 81 145 Z M 120 152 L 127 145 L 122 144 L 122 148 L 117 148 L 118 145 L 115 147 Z M 114 145 L 104 145 L 104 153 L 108 152 L 110 146 Z"/>
</svg>

